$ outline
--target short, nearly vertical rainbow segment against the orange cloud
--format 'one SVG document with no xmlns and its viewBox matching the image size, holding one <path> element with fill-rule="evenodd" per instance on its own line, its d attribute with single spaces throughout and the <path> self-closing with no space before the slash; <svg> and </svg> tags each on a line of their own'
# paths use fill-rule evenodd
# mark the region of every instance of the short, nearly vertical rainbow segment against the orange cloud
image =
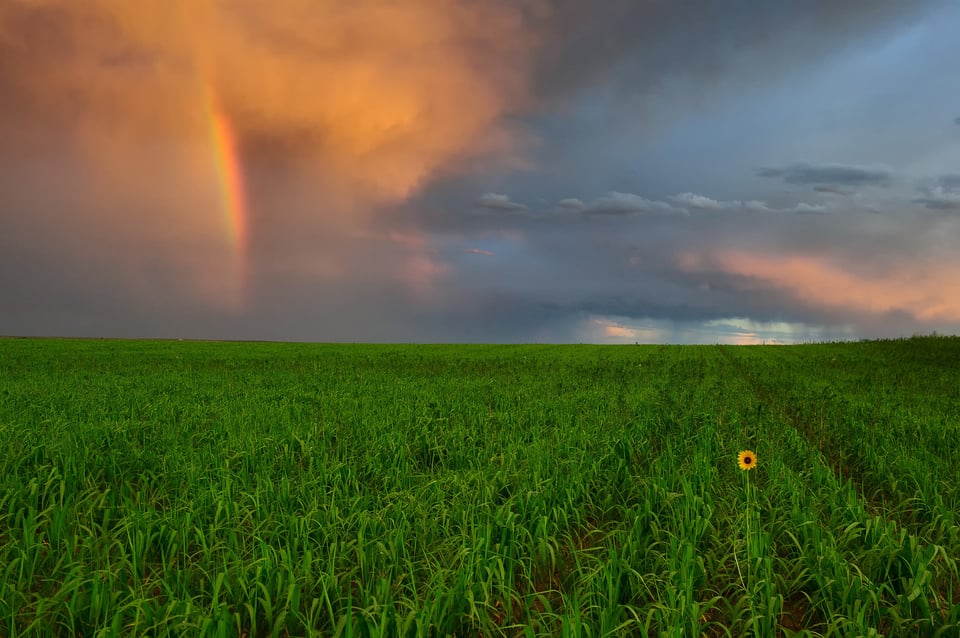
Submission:
<svg viewBox="0 0 960 638">
<path fill-rule="evenodd" d="M 233 127 L 221 109 L 210 84 L 204 86 L 204 108 L 214 155 L 213 164 L 216 170 L 223 223 L 236 262 L 238 289 L 243 290 L 247 277 L 249 222 L 240 156 Z"/>
</svg>

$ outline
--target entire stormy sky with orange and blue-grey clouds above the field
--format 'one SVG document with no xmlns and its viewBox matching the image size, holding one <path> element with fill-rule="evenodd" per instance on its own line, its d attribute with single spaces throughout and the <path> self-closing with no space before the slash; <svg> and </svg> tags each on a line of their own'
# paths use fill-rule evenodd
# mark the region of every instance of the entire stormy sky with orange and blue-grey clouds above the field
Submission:
<svg viewBox="0 0 960 638">
<path fill-rule="evenodd" d="M 960 332 L 953 0 L 3 0 L 0 335 Z"/>
</svg>

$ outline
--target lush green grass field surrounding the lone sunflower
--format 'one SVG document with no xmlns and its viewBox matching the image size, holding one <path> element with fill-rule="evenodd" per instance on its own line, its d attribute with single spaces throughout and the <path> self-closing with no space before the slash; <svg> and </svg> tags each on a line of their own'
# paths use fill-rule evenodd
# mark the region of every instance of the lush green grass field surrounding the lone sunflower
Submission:
<svg viewBox="0 0 960 638">
<path fill-rule="evenodd" d="M 0 636 L 960 635 L 957 338 L 4 339 L 0 449 Z"/>
</svg>

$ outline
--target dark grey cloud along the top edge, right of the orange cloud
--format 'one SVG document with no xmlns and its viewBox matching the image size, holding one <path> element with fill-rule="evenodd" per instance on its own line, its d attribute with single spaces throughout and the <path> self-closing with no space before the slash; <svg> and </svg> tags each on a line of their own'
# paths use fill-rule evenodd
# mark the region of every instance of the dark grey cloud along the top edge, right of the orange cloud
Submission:
<svg viewBox="0 0 960 638">
<path fill-rule="evenodd" d="M 668 80 L 693 85 L 734 74 L 762 80 L 787 64 L 829 56 L 852 37 L 899 26 L 936 3 L 555 0 L 541 3 L 549 10 L 535 86 L 549 99 L 611 79 L 623 93 L 640 96 Z"/>
</svg>

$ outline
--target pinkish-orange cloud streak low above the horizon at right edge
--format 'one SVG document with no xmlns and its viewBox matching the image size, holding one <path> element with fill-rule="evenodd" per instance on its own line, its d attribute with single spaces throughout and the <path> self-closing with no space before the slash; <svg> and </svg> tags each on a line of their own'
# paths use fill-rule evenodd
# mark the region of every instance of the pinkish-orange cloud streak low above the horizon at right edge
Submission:
<svg viewBox="0 0 960 638">
<path fill-rule="evenodd" d="M 682 255 L 690 272 L 719 270 L 783 290 L 814 307 L 870 315 L 897 312 L 922 322 L 960 321 L 960 261 L 904 262 L 883 272 L 858 271 L 820 255 L 721 250 Z"/>
</svg>

